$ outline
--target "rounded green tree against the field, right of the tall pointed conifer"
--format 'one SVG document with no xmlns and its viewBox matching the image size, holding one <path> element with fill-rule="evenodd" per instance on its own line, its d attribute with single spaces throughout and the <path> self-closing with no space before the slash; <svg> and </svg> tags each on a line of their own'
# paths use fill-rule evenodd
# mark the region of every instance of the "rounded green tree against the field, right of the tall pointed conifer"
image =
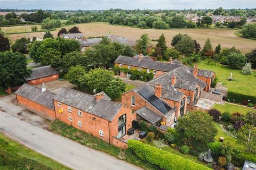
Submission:
<svg viewBox="0 0 256 170">
<path fill-rule="evenodd" d="M 185 57 L 194 52 L 195 43 L 194 43 L 194 40 L 190 36 L 183 35 L 181 40 L 179 40 L 178 43 L 174 47 L 181 54 L 183 54 L 183 57 Z"/>
</svg>

